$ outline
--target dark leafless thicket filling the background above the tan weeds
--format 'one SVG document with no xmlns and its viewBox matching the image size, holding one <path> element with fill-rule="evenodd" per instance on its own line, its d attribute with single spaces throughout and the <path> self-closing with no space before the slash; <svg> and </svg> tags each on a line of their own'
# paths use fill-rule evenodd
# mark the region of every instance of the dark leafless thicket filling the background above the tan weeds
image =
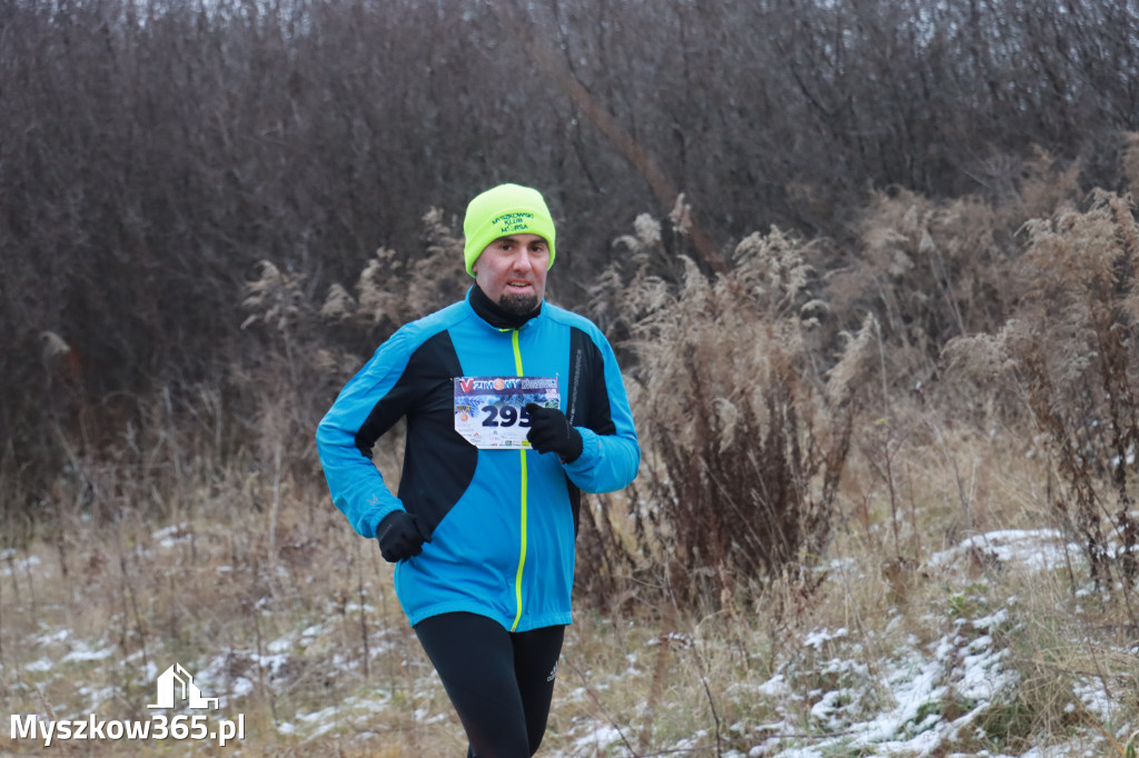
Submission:
<svg viewBox="0 0 1139 758">
<path fill-rule="evenodd" d="M 233 290 L 260 259 L 306 274 L 309 296 L 380 244 L 410 265 L 421 209 L 492 183 L 547 191 L 575 298 L 613 230 L 674 193 L 699 221 L 678 245 L 715 267 L 724 240 L 770 223 L 841 236 L 867 187 L 999 195 L 1033 143 L 1081 186 L 1117 186 L 1139 17 L 1114 0 L 1018 9 L 3 3 L 0 427 L 30 492 L 0 496 L 0 518 L 33 508 L 63 464 L 49 430 L 84 404 L 98 446 L 149 395 L 240 363 Z M 940 291 L 934 320 L 952 324 Z M 43 381 L 44 331 L 82 369 L 66 392 Z"/>
</svg>

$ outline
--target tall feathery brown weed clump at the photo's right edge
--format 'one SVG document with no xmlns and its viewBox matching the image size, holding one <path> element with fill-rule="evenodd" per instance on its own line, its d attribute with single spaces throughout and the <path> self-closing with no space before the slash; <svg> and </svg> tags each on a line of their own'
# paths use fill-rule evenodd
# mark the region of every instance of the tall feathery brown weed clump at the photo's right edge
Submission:
<svg viewBox="0 0 1139 758">
<path fill-rule="evenodd" d="M 1051 506 L 1097 586 L 1139 578 L 1139 225 L 1104 191 L 1024 225 L 1017 307 L 992 335 L 953 340 L 951 370 L 1011 387 L 1047 435 L 1062 486 Z M 1131 610 L 1131 620 L 1137 620 Z"/>
</svg>

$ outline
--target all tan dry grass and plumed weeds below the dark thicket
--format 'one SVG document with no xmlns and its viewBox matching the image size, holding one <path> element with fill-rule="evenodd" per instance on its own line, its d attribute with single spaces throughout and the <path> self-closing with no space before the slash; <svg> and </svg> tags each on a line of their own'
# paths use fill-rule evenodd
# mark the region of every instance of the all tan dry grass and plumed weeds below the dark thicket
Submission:
<svg viewBox="0 0 1139 758">
<path fill-rule="evenodd" d="M 865 264 L 829 278 L 825 242 L 778 230 L 726 274 L 673 266 L 637 221 L 593 295 L 645 468 L 587 501 L 543 755 L 865 756 L 923 735 L 928 755 L 1131 755 L 1139 233 L 1125 197 L 1068 204 L 1046 164 L 999 207 L 875 198 Z M 1002 257 L 1026 208 L 1042 215 Z M 270 349 L 236 387 L 67 447 L 0 559 L 9 712 L 144 718 L 179 661 L 244 714 L 241 755 L 461 753 L 391 567 L 329 502 L 311 444 L 362 362 L 325 329 L 352 344 L 458 287 L 436 265 L 457 239 L 426 222 L 424 265 L 382 250 L 319 303 L 263 266 L 248 326 Z M 875 297 L 882 320 L 860 311 Z M 260 412 L 233 418 L 249 387 Z M 394 485 L 398 432 L 376 461 Z M 81 745 L 140 747 L 211 752 Z"/>
</svg>

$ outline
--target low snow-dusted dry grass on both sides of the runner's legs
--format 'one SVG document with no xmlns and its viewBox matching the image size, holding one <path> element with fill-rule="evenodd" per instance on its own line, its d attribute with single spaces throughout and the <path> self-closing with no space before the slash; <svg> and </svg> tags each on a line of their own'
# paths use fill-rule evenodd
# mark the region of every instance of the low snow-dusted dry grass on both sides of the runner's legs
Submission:
<svg viewBox="0 0 1139 758">
<path fill-rule="evenodd" d="M 1050 512 L 1048 460 L 1000 432 L 935 418 L 915 411 L 895 421 L 906 434 L 892 443 L 894 504 L 880 448 L 853 446 L 812 592 L 786 577 L 714 612 L 653 603 L 653 593 L 632 593 L 615 616 L 582 604 L 544 753 L 748 755 L 842 739 L 842 724 L 890 706 L 901 651 L 944 648 L 949 678 L 986 635 L 1019 684 L 953 750 L 1018 755 L 1033 741 L 1109 751 L 1100 728 L 1124 744 L 1116 730 L 1139 718 L 1139 670 L 1128 653 L 1137 640 L 1121 624 L 1118 596 L 1089 592 L 1079 550 L 1074 583 L 1066 568 L 1034 571 L 984 550 L 933 561 L 968 536 L 1039 526 Z M 854 431 L 883 434 L 876 423 Z M 394 445 L 378 461 L 395 468 Z M 208 672 L 207 694 L 230 695 L 227 714 L 245 715 L 243 755 L 461 752 L 461 730 L 399 611 L 390 567 L 351 534 L 319 483 L 277 484 L 272 543 L 270 471 L 202 470 L 167 488 L 159 521 L 137 506 L 149 497 L 138 485 L 145 477 L 112 476 L 137 465 L 99 472 L 79 463 L 57 489 L 69 514 L 60 508 L 0 569 L 0 695 L 10 712 L 64 717 L 98 702 L 104 718 L 141 718 L 154 674 L 178 660 Z M 103 506 L 113 521 L 84 516 L 95 493 L 115 493 Z M 608 516 L 628 538 L 620 503 Z M 634 584 L 625 571 L 622 582 Z M 994 629 L 974 626 L 997 613 L 1005 618 Z M 1114 723 L 1087 705 L 1088 692 L 1115 703 Z M 949 690 L 921 714 L 959 717 L 975 705 Z M 190 743 L 151 743 L 148 752 L 175 747 L 208 752 Z M 139 744 L 83 749 L 134 755 Z"/>
</svg>

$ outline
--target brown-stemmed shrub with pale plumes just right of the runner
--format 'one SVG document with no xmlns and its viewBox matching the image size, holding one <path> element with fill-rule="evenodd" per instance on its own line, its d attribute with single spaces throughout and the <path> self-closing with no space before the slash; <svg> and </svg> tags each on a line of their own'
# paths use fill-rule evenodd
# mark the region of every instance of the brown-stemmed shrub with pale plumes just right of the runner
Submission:
<svg viewBox="0 0 1139 758">
<path fill-rule="evenodd" d="M 637 359 L 638 549 L 673 601 L 719 607 L 749 583 L 798 575 L 826 545 L 872 319 L 825 377 L 810 246 L 752 234 L 726 274 L 681 258 L 670 286 L 646 272 L 659 233 L 637 226 L 623 240 L 634 271 L 614 267 L 595 294 L 599 311 L 628 319 Z"/>
</svg>

